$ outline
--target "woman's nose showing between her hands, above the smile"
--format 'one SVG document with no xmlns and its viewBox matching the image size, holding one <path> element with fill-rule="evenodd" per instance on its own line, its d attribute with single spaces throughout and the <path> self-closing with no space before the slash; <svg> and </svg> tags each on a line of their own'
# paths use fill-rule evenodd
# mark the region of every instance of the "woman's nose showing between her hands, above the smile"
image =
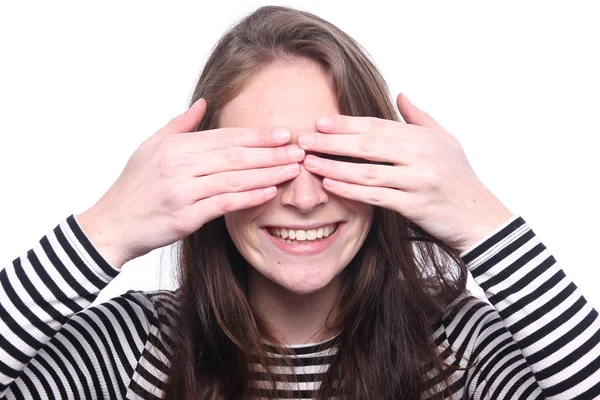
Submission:
<svg viewBox="0 0 600 400">
<path fill-rule="evenodd" d="M 308 214 L 321 204 L 326 204 L 328 195 L 323 189 L 322 178 L 311 174 L 300 164 L 300 173 L 285 182 L 278 190 L 281 193 L 281 204 L 294 207 L 303 214 Z"/>
</svg>

